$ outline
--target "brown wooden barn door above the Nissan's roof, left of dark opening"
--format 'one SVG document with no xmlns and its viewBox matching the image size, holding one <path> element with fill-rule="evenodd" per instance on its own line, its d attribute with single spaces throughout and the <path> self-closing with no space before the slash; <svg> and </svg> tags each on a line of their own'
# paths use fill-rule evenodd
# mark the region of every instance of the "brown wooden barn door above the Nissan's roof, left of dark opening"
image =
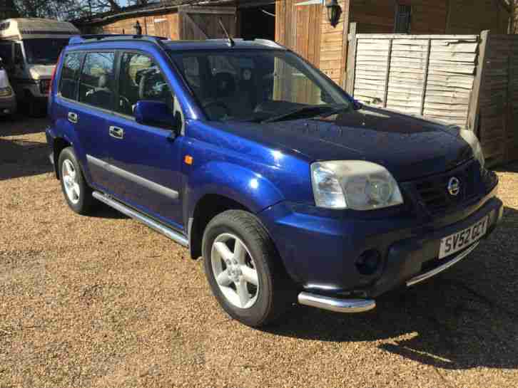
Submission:
<svg viewBox="0 0 518 388">
<path fill-rule="evenodd" d="M 235 36 L 235 7 L 181 6 L 178 9 L 178 17 L 182 40 L 225 38 L 219 20 L 223 22 L 230 36 Z"/>
</svg>

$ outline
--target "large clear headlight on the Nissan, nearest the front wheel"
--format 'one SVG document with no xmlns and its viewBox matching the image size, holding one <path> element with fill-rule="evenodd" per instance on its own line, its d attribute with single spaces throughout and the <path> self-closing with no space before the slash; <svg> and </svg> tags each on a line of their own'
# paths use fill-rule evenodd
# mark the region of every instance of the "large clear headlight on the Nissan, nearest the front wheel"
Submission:
<svg viewBox="0 0 518 388">
<path fill-rule="evenodd" d="M 315 203 L 327 209 L 372 210 L 403 203 L 385 167 L 362 160 L 311 164 Z"/>
</svg>

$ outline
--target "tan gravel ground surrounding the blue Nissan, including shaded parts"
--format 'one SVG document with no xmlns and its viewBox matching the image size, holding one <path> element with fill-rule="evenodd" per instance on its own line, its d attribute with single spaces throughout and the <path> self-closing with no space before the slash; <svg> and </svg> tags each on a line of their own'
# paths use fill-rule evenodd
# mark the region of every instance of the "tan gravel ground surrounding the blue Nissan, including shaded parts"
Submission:
<svg viewBox="0 0 518 388">
<path fill-rule="evenodd" d="M 68 210 L 45 120 L 0 118 L 0 387 L 517 387 L 518 164 L 499 229 L 364 315 L 229 320 L 200 261 L 136 221 Z"/>
</svg>

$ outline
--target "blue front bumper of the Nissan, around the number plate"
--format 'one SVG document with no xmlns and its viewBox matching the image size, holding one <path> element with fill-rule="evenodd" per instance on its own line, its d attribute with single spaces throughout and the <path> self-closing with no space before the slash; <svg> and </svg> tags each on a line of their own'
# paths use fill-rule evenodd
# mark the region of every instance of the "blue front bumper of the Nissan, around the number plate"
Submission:
<svg viewBox="0 0 518 388">
<path fill-rule="evenodd" d="M 369 310 L 375 306 L 370 299 L 445 271 L 476 246 L 473 244 L 464 252 L 439 260 L 442 238 L 466 229 L 485 216 L 489 216 L 489 223 L 484 237 L 489 236 L 503 214 L 503 204 L 496 192 L 494 187 L 476 204 L 427 224 L 420 224 L 417 217 L 405 212 L 349 219 L 285 203 L 266 209 L 260 218 L 270 231 L 290 277 L 305 293 L 302 300 L 299 298 L 300 303 L 318 305 L 322 302 L 318 298 L 334 298 L 331 307 L 344 302 L 338 308 L 348 311 L 347 306 L 357 307 L 356 300 L 362 303 L 360 310 Z M 374 273 L 360 273 L 357 258 L 372 249 L 380 252 L 380 266 Z M 365 300 L 372 302 L 368 308 Z M 323 300 L 319 307 L 326 308 L 325 303 Z"/>
</svg>

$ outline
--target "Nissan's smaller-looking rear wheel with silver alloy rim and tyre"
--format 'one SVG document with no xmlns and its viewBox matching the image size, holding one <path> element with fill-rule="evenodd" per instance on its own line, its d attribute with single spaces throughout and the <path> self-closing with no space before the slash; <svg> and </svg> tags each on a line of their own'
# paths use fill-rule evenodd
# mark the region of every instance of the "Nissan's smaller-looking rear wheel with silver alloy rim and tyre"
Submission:
<svg viewBox="0 0 518 388">
<path fill-rule="evenodd" d="M 58 163 L 61 189 L 68 206 L 77 214 L 90 214 L 95 199 L 92 196 L 92 189 L 86 184 L 72 147 L 66 147 L 61 151 Z"/>
</svg>

